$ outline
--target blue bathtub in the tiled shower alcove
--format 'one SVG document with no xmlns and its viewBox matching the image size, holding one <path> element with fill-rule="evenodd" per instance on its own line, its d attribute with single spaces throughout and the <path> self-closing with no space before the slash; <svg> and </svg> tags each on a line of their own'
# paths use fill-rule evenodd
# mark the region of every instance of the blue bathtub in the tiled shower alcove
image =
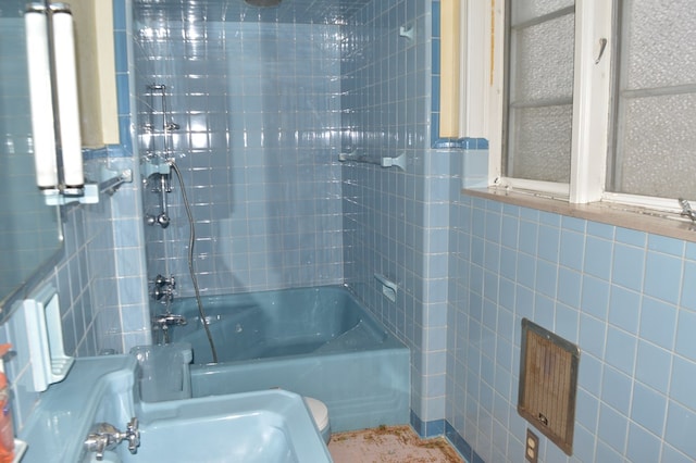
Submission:
<svg viewBox="0 0 696 463">
<path fill-rule="evenodd" d="M 172 312 L 170 328 L 190 343 L 194 397 L 283 388 L 328 408 L 334 431 L 409 422 L 410 352 L 344 287 L 285 289 L 202 298 L 219 363 L 195 299 Z"/>
</svg>

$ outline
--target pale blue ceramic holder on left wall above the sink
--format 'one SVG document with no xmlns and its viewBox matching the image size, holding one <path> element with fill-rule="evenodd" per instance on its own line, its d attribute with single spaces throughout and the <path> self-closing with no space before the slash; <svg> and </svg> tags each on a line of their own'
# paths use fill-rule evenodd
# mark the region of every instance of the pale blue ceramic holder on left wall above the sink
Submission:
<svg viewBox="0 0 696 463">
<path fill-rule="evenodd" d="M 65 378 L 75 359 L 65 354 L 61 311 L 55 288 L 48 286 L 23 302 L 34 390 Z"/>
</svg>

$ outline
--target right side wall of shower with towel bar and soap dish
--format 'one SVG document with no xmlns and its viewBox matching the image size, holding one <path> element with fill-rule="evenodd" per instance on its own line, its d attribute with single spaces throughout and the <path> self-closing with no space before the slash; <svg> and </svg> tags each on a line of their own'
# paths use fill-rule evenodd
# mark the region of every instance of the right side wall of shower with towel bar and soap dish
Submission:
<svg viewBox="0 0 696 463">
<path fill-rule="evenodd" d="M 344 26 L 343 151 L 406 153 L 406 172 L 344 166 L 346 283 L 411 349 L 411 422 L 444 431 L 449 158 L 430 150 L 431 5 L 372 1 Z M 413 39 L 400 32 L 412 29 Z M 396 302 L 374 274 L 394 280 Z"/>
</svg>

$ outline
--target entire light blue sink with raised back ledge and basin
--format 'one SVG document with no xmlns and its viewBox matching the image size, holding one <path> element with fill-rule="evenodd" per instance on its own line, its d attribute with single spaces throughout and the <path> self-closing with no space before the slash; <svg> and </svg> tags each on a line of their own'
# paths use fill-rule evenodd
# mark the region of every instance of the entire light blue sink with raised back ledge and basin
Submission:
<svg viewBox="0 0 696 463">
<path fill-rule="evenodd" d="M 23 463 L 95 462 L 84 441 L 96 423 L 124 429 L 137 417 L 140 446 L 104 452 L 103 463 L 331 463 L 302 398 L 279 389 L 141 402 L 129 355 L 84 358 L 52 385 L 20 434 Z"/>
</svg>

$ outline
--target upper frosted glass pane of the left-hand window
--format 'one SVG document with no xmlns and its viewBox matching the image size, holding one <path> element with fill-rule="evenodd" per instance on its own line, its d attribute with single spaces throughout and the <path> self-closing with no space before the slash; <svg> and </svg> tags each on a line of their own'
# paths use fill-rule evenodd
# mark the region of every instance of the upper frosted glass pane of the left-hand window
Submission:
<svg viewBox="0 0 696 463">
<path fill-rule="evenodd" d="M 573 95 L 574 15 L 517 30 L 510 100 L 571 98 Z"/>
</svg>

